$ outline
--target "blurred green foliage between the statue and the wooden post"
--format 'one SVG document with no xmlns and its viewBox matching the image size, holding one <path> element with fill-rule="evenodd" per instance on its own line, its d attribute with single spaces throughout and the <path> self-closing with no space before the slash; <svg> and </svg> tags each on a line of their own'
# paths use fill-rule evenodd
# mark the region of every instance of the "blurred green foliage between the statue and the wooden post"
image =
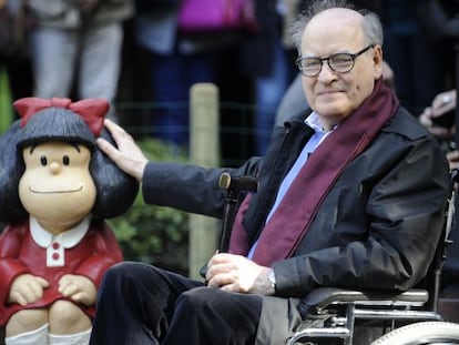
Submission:
<svg viewBox="0 0 459 345">
<path fill-rule="evenodd" d="M 185 161 L 181 149 L 152 139 L 137 142 L 152 161 Z M 174 155 L 171 156 L 171 152 Z M 109 220 L 125 260 L 152 263 L 183 274 L 188 266 L 187 213 L 147 205 L 139 193 L 130 211 Z"/>
</svg>

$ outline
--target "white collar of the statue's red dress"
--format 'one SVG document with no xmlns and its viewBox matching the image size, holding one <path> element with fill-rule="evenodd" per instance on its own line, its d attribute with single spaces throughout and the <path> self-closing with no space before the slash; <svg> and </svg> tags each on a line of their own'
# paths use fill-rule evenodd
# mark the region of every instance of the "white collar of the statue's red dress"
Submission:
<svg viewBox="0 0 459 345">
<path fill-rule="evenodd" d="M 53 235 L 50 232 L 45 231 L 38 220 L 33 216 L 30 216 L 30 233 L 33 241 L 41 247 L 49 247 L 51 243 L 59 242 L 65 248 L 71 248 L 80 243 L 80 241 L 86 234 L 91 223 L 91 216 L 86 216 L 79 224 L 64 231 L 59 235 Z"/>
</svg>

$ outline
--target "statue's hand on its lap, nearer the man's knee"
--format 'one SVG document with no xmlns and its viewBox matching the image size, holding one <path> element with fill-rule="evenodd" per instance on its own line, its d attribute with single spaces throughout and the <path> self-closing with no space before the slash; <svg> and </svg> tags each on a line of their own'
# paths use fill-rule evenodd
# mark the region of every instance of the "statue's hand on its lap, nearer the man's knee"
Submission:
<svg viewBox="0 0 459 345">
<path fill-rule="evenodd" d="M 65 274 L 61 277 L 59 292 L 62 296 L 88 306 L 95 304 L 98 295 L 98 288 L 90 278 L 74 274 Z"/>
</svg>

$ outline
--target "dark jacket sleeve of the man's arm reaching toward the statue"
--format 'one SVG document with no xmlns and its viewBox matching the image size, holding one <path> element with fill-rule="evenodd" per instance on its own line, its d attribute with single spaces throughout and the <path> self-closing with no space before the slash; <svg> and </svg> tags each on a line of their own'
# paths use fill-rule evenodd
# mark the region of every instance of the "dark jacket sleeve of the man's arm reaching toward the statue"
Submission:
<svg viewBox="0 0 459 345">
<path fill-rule="evenodd" d="M 220 175 L 230 172 L 232 176 L 255 176 L 259 164 L 259 158 L 253 158 L 237 169 L 151 162 L 143 175 L 143 199 L 149 204 L 221 217 L 225 195 L 218 189 Z"/>
</svg>

